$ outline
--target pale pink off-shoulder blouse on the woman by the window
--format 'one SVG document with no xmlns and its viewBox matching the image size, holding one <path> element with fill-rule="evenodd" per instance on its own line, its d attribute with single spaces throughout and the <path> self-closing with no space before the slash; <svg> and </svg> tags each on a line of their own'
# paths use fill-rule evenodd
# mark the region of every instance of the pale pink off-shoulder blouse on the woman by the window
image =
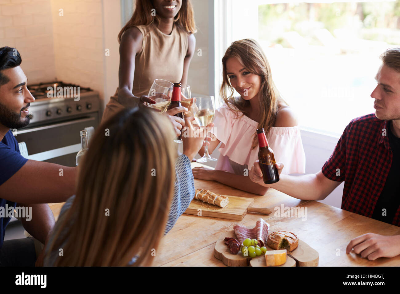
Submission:
<svg viewBox="0 0 400 294">
<path fill-rule="evenodd" d="M 258 122 L 234 112 L 224 104 L 215 111 L 213 134 L 222 142 L 216 170 L 243 175 L 258 160 L 258 146 L 251 148 Z M 239 117 L 238 117 L 239 116 Z M 306 154 L 299 126 L 272 127 L 267 140 L 276 162 L 282 162 L 283 174 L 304 174 Z"/>
</svg>

